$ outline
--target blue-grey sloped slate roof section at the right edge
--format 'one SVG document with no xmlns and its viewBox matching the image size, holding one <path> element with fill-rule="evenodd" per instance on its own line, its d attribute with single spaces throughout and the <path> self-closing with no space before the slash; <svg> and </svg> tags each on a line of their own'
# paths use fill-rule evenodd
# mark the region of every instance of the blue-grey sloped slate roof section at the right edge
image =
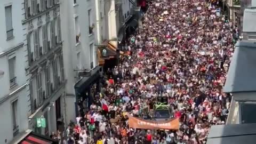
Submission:
<svg viewBox="0 0 256 144">
<path fill-rule="evenodd" d="M 224 92 L 256 91 L 256 43 L 240 41 L 230 62 Z"/>
</svg>

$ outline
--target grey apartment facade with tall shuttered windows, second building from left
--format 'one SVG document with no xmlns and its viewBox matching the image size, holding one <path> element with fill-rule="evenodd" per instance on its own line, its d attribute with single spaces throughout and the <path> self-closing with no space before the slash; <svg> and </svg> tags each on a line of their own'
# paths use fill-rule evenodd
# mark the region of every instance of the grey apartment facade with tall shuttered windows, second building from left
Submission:
<svg viewBox="0 0 256 144">
<path fill-rule="evenodd" d="M 47 135 L 57 131 L 58 118 L 65 118 L 62 95 L 66 79 L 59 1 L 25 0 L 23 5 L 23 39 L 28 53 L 26 71 L 30 92 L 27 95 L 30 100 L 29 129 Z M 40 117 L 46 118 L 45 128 L 36 127 L 36 118 Z"/>
</svg>

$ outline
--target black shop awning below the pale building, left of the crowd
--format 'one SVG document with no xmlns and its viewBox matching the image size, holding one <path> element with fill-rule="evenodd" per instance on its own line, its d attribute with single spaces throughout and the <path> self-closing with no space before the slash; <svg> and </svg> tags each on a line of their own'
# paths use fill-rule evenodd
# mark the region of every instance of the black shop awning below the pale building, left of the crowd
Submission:
<svg viewBox="0 0 256 144">
<path fill-rule="evenodd" d="M 75 84 L 76 93 L 83 93 L 85 89 L 90 87 L 90 85 L 100 77 L 100 68 L 100 66 L 95 67 L 91 71 L 91 76 L 83 77 L 80 81 L 78 81 Z"/>
</svg>

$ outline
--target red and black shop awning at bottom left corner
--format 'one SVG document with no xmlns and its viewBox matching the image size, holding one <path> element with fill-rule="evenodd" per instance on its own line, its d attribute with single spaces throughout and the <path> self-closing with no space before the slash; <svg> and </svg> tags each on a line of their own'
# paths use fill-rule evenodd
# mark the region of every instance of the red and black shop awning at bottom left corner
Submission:
<svg viewBox="0 0 256 144">
<path fill-rule="evenodd" d="M 23 138 L 19 144 L 57 144 L 58 141 L 55 141 L 54 139 L 50 139 L 45 137 L 44 135 L 39 135 L 35 132 L 30 132 L 27 135 L 25 135 L 25 138 Z"/>
</svg>

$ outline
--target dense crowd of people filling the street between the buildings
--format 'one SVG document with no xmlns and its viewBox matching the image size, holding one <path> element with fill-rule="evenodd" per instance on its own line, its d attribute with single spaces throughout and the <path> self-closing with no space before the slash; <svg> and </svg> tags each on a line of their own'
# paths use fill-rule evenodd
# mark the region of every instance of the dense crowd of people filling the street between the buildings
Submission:
<svg viewBox="0 0 256 144">
<path fill-rule="evenodd" d="M 218 1 L 155 0 L 142 28 L 127 39 L 127 58 L 106 71 L 86 114 L 70 124 L 68 144 L 201 144 L 211 125 L 224 124 L 231 95 L 222 92 L 238 29 L 217 11 Z M 166 97 L 179 130 L 132 129 Z M 154 118 L 150 113 L 147 119 Z"/>
</svg>

